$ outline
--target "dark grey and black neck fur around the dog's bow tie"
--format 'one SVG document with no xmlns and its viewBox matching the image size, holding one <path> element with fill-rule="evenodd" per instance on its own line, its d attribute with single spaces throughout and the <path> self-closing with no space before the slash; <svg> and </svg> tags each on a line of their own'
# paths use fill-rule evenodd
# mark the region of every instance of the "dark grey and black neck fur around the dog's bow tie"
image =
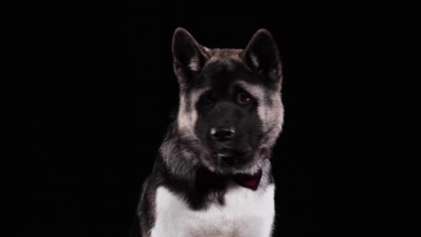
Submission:
<svg viewBox="0 0 421 237">
<path fill-rule="evenodd" d="M 243 177 L 249 179 L 251 183 L 247 187 L 247 180 L 239 182 L 240 177 L 235 175 L 206 175 L 209 173 L 204 173 L 203 170 L 207 169 L 197 157 L 193 157 L 194 152 L 180 144 L 183 143 L 177 136 L 176 130 L 174 127 L 170 128 L 161 145 L 160 155 L 156 159 L 154 173 L 160 176 L 158 185 L 166 186 L 170 191 L 181 195 L 192 209 L 204 209 L 213 202 L 222 204 L 224 193 L 229 188 L 250 188 L 260 191 L 273 183 L 269 159 L 262 160 L 258 171 L 261 173 Z M 257 185 L 253 182 L 257 182 Z"/>
</svg>

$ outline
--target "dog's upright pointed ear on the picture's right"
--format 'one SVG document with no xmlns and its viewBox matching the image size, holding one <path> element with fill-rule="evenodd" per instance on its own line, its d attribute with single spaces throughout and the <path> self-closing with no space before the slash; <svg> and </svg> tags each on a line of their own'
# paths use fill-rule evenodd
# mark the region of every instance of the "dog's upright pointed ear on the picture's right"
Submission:
<svg viewBox="0 0 421 237">
<path fill-rule="evenodd" d="M 282 67 L 279 58 L 278 46 L 271 33 L 266 29 L 258 30 L 240 58 L 254 71 L 271 83 L 280 83 Z"/>
</svg>

